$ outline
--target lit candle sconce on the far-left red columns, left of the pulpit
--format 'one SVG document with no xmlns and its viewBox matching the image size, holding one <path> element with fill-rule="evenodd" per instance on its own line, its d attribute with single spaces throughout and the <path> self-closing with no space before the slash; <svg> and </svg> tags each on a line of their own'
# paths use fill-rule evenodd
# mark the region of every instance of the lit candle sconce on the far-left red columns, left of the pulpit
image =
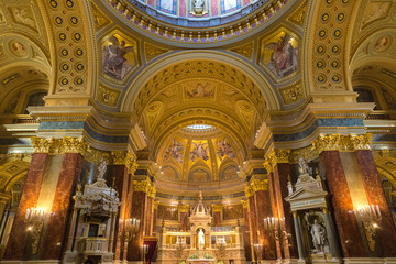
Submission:
<svg viewBox="0 0 396 264">
<path fill-rule="evenodd" d="M 41 234 L 44 227 L 44 219 L 46 217 L 45 209 L 30 208 L 26 210 L 25 222 L 28 223 L 28 231 L 32 238 L 32 254 L 35 255 L 38 252 L 38 244 Z"/>
</svg>

